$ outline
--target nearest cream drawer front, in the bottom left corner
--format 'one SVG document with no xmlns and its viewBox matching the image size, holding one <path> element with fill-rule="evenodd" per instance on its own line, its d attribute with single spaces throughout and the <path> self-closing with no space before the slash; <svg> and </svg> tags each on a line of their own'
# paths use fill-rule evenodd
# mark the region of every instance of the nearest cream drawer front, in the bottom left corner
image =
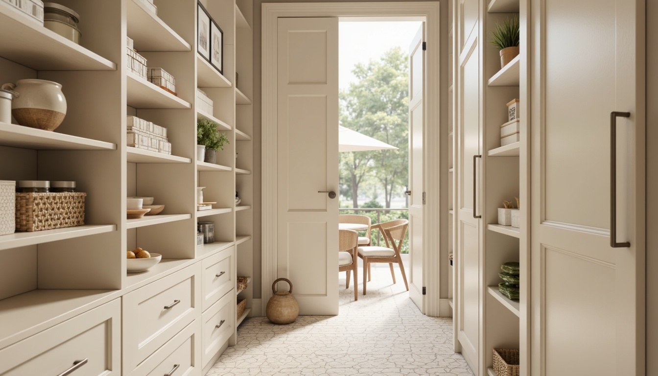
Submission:
<svg viewBox="0 0 658 376">
<path fill-rule="evenodd" d="M 0 350 L 0 375 L 121 374 L 121 302 L 115 299 Z"/>
</svg>

